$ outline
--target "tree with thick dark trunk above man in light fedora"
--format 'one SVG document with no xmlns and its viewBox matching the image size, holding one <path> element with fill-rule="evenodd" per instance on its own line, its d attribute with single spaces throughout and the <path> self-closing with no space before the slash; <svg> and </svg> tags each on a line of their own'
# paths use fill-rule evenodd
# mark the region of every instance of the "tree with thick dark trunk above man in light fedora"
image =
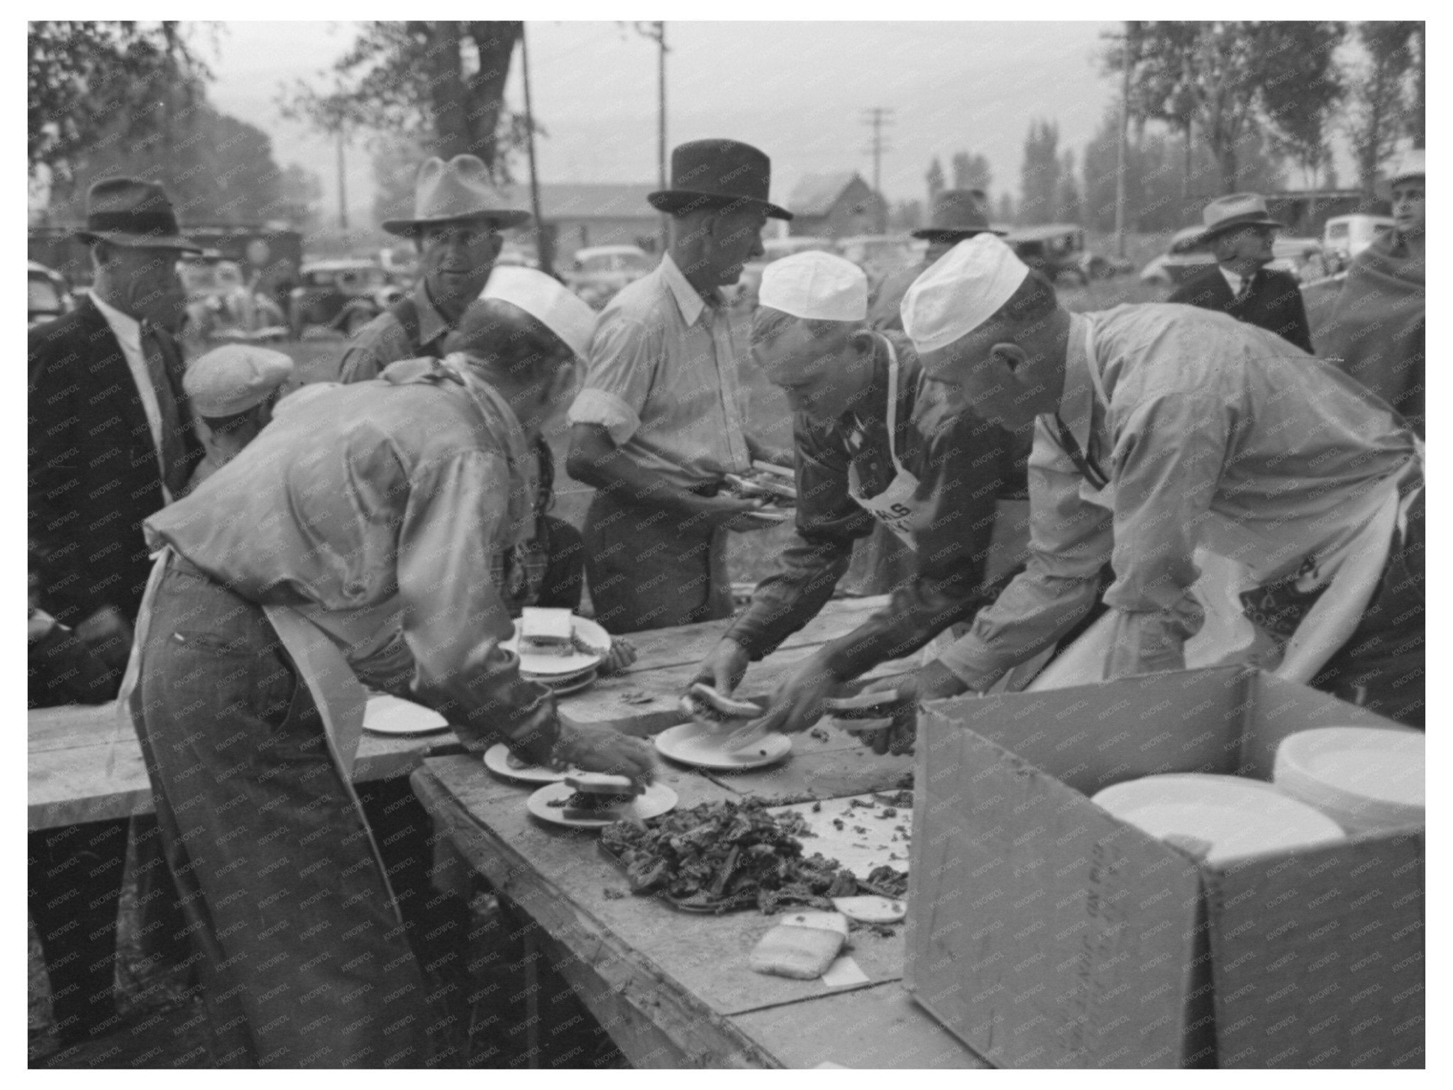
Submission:
<svg viewBox="0 0 1453 1090">
<path fill-rule="evenodd" d="M 327 132 L 362 126 L 418 140 L 426 154 L 471 154 L 510 180 L 525 121 L 504 109 L 522 22 L 372 22 L 333 65 L 336 89 L 298 83 L 289 116 Z"/>
</svg>

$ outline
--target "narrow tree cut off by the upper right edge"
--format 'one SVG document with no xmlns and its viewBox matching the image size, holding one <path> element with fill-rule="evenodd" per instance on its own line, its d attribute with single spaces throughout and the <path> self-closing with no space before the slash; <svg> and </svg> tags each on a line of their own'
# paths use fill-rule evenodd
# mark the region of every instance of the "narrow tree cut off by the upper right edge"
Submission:
<svg viewBox="0 0 1453 1090">
<path fill-rule="evenodd" d="M 1405 115 L 1411 100 L 1414 33 L 1421 39 L 1422 23 L 1359 23 L 1357 44 L 1361 58 L 1347 70 L 1347 112 L 1344 128 L 1357 163 L 1357 185 L 1363 201 L 1375 199 L 1377 167 L 1388 161 L 1407 131 Z"/>
</svg>

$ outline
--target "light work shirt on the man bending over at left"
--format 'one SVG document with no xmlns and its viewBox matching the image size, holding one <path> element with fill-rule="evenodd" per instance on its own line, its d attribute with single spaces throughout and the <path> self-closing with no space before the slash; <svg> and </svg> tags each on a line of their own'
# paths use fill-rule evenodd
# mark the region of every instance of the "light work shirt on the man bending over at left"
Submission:
<svg viewBox="0 0 1453 1090">
<path fill-rule="evenodd" d="M 554 702 L 500 648 L 513 625 L 495 586 L 532 523 L 533 461 L 468 368 L 402 360 L 283 398 L 208 487 L 145 526 L 241 597 L 298 607 L 346 654 L 401 619 L 413 693 L 471 748 L 507 741 L 543 762 Z"/>
</svg>

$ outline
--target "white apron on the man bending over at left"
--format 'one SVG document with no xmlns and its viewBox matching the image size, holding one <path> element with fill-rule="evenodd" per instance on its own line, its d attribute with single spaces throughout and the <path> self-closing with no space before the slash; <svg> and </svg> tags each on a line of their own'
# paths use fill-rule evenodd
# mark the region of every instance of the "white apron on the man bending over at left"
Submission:
<svg viewBox="0 0 1453 1090">
<path fill-rule="evenodd" d="M 141 612 L 137 615 L 137 637 L 131 645 L 131 658 L 126 663 L 126 676 L 121 683 L 121 695 L 116 701 L 116 716 L 122 725 L 131 730 L 131 695 L 141 676 L 141 653 L 147 645 L 147 634 L 151 629 L 151 609 L 155 600 L 157 587 L 166 574 L 167 565 L 176 555 L 167 545 L 155 554 L 155 564 L 151 567 L 151 577 L 147 580 L 147 590 L 141 599 Z M 398 901 L 394 897 L 394 887 L 388 881 L 388 871 L 378 844 L 373 841 L 373 831 L 369 828 L 363 807 L 357 792 L 353 791 L 353 764 L 357 760 L 359 738 L 363 734 L 363 709 L 368 703 L 368 693 L 359 683 L 339 645 L 309 621 L 301 610 L 292 606 L 263 606 L 267 622 L 273 626 L 282 645 L 288 650 L 298 676 L 308 686 L 318 715 L 323 718 L 324 735 L 328 741 L 328 756 L 339 773 L 339 779 L 347 791 L 353 808 L 357 811 L 363 828 L 369 830 L 369 849 L 378 863 L 378 873 L 388 889 L 389 905 L 397 921 L 402 923 Z"/>
</svg>

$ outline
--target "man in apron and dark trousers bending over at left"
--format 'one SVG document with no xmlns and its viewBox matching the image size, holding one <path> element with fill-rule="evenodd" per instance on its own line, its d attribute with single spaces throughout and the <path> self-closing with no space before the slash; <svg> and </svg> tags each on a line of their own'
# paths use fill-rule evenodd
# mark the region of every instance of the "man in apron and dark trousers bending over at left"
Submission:
<svg viewBox="0 0 1453 1090">
<path fill-rule="evenodd" d="M 468 347 L 298 391 L 147 522 L 161 554 L 122 705 L 222 1065 L 413 1067 L 443 1036 L 350 783 L 357 674 L 411 673 L 472 753 L 651 776 L 644 743 L 561 725 L 500 648 L 498 557 L 527 532 L 570 349 Z"/>
</svg>

